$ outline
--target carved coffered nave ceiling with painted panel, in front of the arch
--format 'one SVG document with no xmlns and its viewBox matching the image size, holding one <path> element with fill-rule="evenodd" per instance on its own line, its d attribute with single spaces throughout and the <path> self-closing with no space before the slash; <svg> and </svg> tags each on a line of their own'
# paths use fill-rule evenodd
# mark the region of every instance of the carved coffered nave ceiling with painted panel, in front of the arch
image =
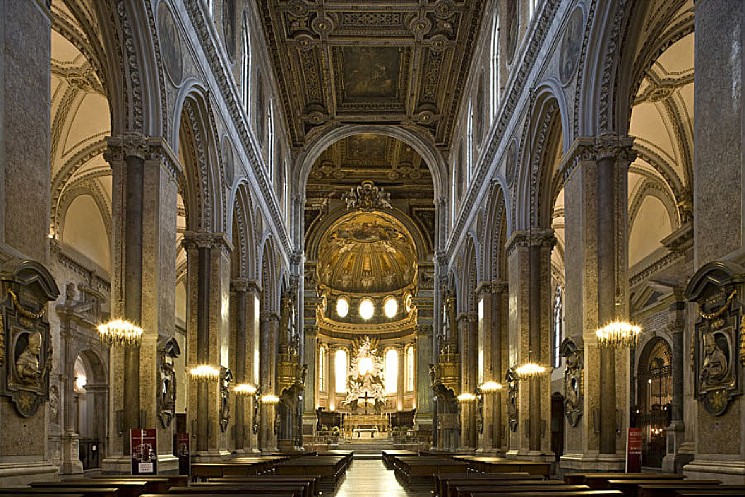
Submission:
<svg viewBox="0 0 745 497">
<path fill-rule="evenodd" d="M 448 146 L 485 0 L 259 2 L 291 139 L 405 124 Z"/>
</svg>

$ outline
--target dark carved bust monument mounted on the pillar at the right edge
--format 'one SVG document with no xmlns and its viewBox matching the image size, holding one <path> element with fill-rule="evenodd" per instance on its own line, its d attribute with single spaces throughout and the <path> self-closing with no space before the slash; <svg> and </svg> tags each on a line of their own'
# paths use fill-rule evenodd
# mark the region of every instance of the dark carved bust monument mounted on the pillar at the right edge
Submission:
<svg viewBox="0 0 745 497">
<path fill-rule="evenodd" d="M 696 302 L 699 319 L 693 337 L 696 398 L 706 412 L 721 416 L 742 395 L 737 366 L 743 340 L 740 295 L 745 268 L 733 262 L 710 262 L 691 278 L 686 298 Z"/>
</svg>

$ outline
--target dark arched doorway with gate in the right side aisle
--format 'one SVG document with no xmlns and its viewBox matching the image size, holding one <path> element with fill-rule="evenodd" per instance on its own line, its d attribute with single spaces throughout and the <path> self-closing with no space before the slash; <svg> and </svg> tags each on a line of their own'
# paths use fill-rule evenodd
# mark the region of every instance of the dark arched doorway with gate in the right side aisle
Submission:
<svg viewBox="0 0 745 497">
<path fill-rule="evenodd" d="M 665 457 L 665 428 L 670 424 L 673 375 L 670 344 L 660 337 L 644 347 L 637 369 L 636 422 L 642 429 L 642 464 L 659 468 Z"/>
</svg>

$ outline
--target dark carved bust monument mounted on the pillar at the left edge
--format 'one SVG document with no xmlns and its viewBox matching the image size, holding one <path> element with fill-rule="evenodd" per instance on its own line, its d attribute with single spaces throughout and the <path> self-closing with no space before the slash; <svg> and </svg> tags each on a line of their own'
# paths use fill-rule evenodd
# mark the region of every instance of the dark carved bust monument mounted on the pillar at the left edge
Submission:
<svg viewBox="0 0 745 497">
<path fill-rule="evenodd" d="M 52 345 L 47 303 L 59 296 L 54 278 L 34 261 L 0 267 L 0 395 L 23 417 L 49 400 Z"/>
</svg>

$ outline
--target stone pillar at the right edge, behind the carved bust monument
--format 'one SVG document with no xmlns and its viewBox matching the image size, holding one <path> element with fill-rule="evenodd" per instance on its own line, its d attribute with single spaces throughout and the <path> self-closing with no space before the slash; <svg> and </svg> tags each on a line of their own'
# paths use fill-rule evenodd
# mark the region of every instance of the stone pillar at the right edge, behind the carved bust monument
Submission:
<svg viewBox="0 0 745 497">
<path fill-rule="evenodd" d="M 745 239 L 745 171 L 742 100 L 745 3 L 739 0 L 698 0 L 694 11 L 696 85 L 694 101 L 693 224 L 694 271 L 707 263 L 742 263 Z M 745 299 L 738 290 L 736 301 Z M 692 307 L 687 335 L 698 318 Z M 740 366 L 739 373 L 743 374 Z M 693 378 L 693 382 L 697 381 Z M 743 381 L 740 376 L 739 382 Z M 693 396 L 695 456 L 683 468 L 689 478 L 715 478 L 745 483 L 745 400 L 732 399 L 727 410 L 713 416 Z M 688 427 L 688 421 L 686 421 Z"/>
</svg>

